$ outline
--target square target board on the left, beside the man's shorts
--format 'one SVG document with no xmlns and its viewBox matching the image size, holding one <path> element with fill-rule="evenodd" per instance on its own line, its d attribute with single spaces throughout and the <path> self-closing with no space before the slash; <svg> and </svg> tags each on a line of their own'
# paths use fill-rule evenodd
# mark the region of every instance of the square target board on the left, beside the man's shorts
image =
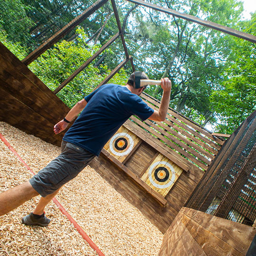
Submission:
<svg viewBox="0 0 256 256">
<path fill-rule="evenodd" d="M 123 162 L 139 141 L 139 137 L 122 126 L 104 148 L 119 162 Z"/>
</svg>

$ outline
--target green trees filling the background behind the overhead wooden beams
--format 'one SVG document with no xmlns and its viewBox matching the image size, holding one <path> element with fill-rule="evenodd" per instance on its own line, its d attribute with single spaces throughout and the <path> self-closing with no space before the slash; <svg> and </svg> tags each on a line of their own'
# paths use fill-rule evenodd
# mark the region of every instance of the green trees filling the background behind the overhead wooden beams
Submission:
<svg viewBox="0 0 256 256">
<path fill-rule="evenodd" d="M 2 0 L 0 40 L 21 60 L 92 2 Z M 237 0 L 150 2 L 256 35 L 256 14 L 251 20 L 240 21 L 243 8 Z M 216 129 L 227 133 L 255 109 L 255 45 L 159 11 L 142 6 L 135 9 L 128 1 L 118 0 L 116 4 L 121 23 L 128 18 L 124 36 L 136 69 L 151 79 L 171 79 L 172 108 L 201 125 L 218 120 Z M 117 32 L 109 1 L 29 68 L 54 90 Z M 104 59 L 98 67 L 94 66 L 95 60 L 57 94 L 69 107 L 90 93 L 125 58 L 120 38 L 101 56 Z M 125 84 L 130 72 L 127 64 L 110 82 Z M 155 86 L 148 86 L 146 93 L 161 100 L 162 91 Z"/>
</svg>

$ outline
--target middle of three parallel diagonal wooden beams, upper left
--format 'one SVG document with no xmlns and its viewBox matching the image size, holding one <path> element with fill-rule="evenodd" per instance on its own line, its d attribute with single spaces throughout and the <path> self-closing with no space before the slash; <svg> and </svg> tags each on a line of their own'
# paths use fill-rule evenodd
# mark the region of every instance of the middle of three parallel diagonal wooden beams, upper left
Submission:
<svg viewBox="0 0 256 256">
<path fill-rule="evenodd" d="M 119 37 L 119 33 L 115 36 L 111 37 L 110 40 L 101 47 L 99 51 L 97 51 L 94 55 L 92 55 L 81 67 L 79 67 L 69 78 L 67 78 L 64 82 L 62 82 L 53 92 L 56 94 L 60 90 L 62 90 L 76 75 L 78 75 L 83 69 L 85 69 L 95 58 L 97 58 L 108 46 L 110 46 L 117 38 Z"/>
</svg>

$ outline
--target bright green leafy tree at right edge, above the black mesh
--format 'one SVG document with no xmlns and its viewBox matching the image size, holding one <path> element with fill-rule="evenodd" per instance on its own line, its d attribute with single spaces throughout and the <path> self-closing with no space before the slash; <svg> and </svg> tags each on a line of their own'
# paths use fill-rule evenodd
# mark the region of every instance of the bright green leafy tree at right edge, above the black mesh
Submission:
<svg viewBox="0 0 256 256">
<path fill-rule="evenodd" d="M 239 26 L 256 35 L 256 13 Z M 211 102 L 219 114 L 220 132 L 231 133 L 249 114 L 256 110 L 256 46 L 238 38 L 229 42 L 230 55 L 226 62 L 223 89 L 213 91 Z"/>
</svg>

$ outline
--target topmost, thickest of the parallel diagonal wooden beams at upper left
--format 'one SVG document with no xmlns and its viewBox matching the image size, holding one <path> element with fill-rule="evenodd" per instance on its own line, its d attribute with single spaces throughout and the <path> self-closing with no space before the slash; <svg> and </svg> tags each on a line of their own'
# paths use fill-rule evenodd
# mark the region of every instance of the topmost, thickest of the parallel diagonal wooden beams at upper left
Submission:
<svg viewBox="0 0 256 256">
<path fill-rule="evenodd" d="M 60 38 L 64 37 L 65 34 L 70 32 L 74 27 L 79 25 L 85 18 L 89 17 L 95 10 L 99 9 L 103 4 L 105 4 L 108 0 L 98 0 L 93 3 L 90 7 L 88 7 L 82 14 L 74 18 L 71 22 L 69 22 L 65 27 L 59 30 L 55 35 L 50 37 L 44 44 L 39 46 L 36 50 L 27 55 L 26 58 L 22 60 L 22 63 L 25 65 L 30 64 L 34 61 L 38 56 L 44 53 L 47 49 L 53 46 Z"/>
</svg>

